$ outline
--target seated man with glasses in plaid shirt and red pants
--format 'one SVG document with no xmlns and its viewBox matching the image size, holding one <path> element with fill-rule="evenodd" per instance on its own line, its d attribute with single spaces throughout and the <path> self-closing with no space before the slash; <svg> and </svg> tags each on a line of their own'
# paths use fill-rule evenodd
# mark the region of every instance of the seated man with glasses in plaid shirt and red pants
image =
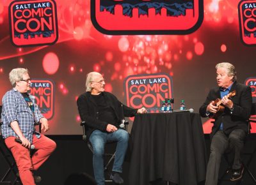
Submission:
<svg viewBox="0 0 256 185">
<path fill-rule="evenodd" d="M 49 130 L 49 124 L 35 104 L 35 97 L 28 93 L 31 85 L 28 70 L 15 68 L 9 78 L 13 89 L 3 97 L 1 132 L 17 163 L 22 184 L 35 185 L 35 180 L 40 179 L 34 179 L 33 172 L 49 158 L 56 143 L 35 131 L 35 122 L 40 122 L 43 131 Z M 36 152 L 30 157 L 32 144 Z"/>
</svg>

